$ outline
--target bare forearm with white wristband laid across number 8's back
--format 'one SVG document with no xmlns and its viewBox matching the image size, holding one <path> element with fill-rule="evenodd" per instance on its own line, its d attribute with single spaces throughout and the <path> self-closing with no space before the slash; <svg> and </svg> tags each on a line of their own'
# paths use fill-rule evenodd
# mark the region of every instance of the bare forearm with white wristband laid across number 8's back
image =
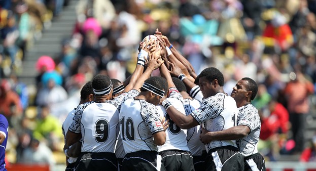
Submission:
<svg viewBox="0 0 316 171">
<path fill-rule="evenodd" d="M 162 105 L 168 112 L 170 118 L 175 124 L 177 124 L 181 129 L 190 129 L 199 123 L 192 117 L 192 115 L 184 115 L 179 110 L 175 109 L 168 100 L 162 102 Z"/>
</svg>

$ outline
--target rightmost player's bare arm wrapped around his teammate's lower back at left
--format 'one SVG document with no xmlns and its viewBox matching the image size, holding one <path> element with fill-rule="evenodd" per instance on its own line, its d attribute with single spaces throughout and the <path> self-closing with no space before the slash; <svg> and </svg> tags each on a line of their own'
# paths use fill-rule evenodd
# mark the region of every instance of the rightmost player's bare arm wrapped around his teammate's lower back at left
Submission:
<svg viewBox="0 0 316 171">
<path fill-rule="evenodd" d="M 250 128 L 246 125 L 238 125 L 230 127 L 227 130 L 210 132 L 202 128 L 200 140 L 202 143 L 209 143 L 214 140 L 237 140 L 247 136 Z"/>
</svg>

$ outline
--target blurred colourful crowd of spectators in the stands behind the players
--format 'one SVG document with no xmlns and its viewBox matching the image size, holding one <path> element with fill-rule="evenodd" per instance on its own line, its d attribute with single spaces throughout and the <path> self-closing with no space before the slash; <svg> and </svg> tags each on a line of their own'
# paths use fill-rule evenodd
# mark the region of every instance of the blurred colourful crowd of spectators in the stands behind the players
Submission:
<svg viewBox="0 0 316 171">
<path fill-rule="evenodd" d="M 315 126 L 316 103 L 315 0 L 78 0 L 72 35 L 61 41 L 58 56 L 39 57 L 31 92 L 14 71 L 68 2 L 0 0 L 0 113 L 10 123 L 9 162 L 64 163 L 61 123 L 79 104 L 82 86 L 98 73 L 125 80 L 139 41 L 156 28 L 197 74 L 209 66 L 221 70 L 226 93 L 242 77 L 257 81 L 258 148 L 266 160 L 309 148 L 305 131 Z"/>
</svg>

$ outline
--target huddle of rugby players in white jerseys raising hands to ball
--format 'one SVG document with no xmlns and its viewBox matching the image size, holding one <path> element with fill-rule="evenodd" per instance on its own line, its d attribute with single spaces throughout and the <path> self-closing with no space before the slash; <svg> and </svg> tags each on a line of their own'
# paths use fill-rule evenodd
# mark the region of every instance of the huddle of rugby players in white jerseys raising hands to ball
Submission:
<svg viewBox="0 0 316 171">
<path fill-rule="evenodd" d="M 66 170 L 265 170 L 253 79 L 229 96 L 221 71 L 196 75 L 158 29 L 138 50 L 125 81 L 98 74 L 82 88 L 62 125 Z"/>
</svg>

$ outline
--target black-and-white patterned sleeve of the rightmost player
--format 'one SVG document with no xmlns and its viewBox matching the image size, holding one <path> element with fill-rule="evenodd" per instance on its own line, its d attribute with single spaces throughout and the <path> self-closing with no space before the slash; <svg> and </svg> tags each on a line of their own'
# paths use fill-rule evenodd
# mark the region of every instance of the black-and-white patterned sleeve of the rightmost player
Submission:
<svg viewBox="0 0 316 171">
<path fill-rule="evenodd" d="M 250 132 L 256 130 L 260 126 L 260 117 L 256 107 L 247 105 L 243 110 L 239 110 L 238 125 L 246 125 L 250 128 Z"/>
</svg>

